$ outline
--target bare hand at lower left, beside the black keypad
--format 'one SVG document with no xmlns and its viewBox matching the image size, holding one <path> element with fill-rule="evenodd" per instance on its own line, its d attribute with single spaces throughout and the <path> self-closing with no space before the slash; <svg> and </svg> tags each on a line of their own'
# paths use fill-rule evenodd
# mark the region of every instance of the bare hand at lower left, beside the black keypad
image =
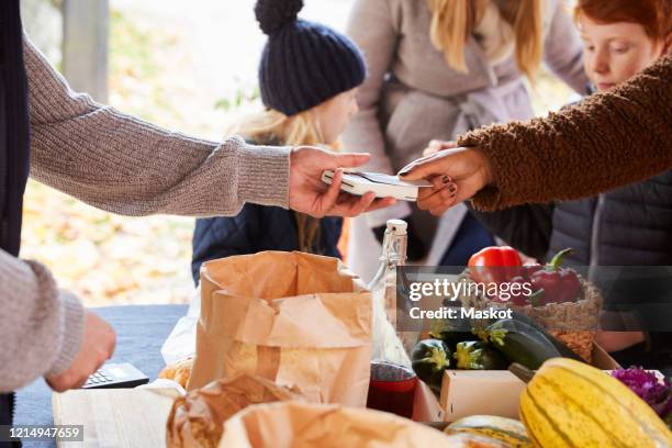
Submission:
<svg viewBox="0 0 672 448">
<path fill-rule="evenodd" d="M 65 372 L 45 378 L 47 384 L 56 392 L 80 388 L 91 373 L 112 357 L 115 344 L 116 336 L 110 324 L 87 311 L 79 351 Z"/>
</svg>

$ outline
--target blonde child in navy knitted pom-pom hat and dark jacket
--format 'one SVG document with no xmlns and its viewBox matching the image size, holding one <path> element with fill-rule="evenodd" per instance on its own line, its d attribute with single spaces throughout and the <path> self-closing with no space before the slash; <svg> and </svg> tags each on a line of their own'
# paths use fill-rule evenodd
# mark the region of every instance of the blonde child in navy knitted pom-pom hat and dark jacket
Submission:
<svg viewBox="0 0 672 448">
<path fill-rule="evenodd" d="M 357 113 L 366 77 L 361 53 L 346 36 L 299 20 L 301 0 L 259 0 L 255 14 L 268 42 L 259 64 L 266 111 L 234 131 L 258 145 L 327 145 Z M 272 182 L 272 179 L 268 179 Z M 246 204 L 234 217 L 197 220 L 192 275 L 204 261 L 261 250 L 302 250 L 338 257 L 341 220 L 313 219 L 277 206 Z"/>
</svg>

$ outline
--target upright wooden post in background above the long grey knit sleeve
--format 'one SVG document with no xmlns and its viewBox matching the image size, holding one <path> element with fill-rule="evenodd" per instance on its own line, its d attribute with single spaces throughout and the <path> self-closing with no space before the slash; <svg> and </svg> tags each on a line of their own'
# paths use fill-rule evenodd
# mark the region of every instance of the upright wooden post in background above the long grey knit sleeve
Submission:
<svg viewBox="0 0 672 448">
<path fill-rule="evenodd" d="M 64 0 L 63 74 L 75 91 L 108 101 L 109 0 Z"/>
</svg>

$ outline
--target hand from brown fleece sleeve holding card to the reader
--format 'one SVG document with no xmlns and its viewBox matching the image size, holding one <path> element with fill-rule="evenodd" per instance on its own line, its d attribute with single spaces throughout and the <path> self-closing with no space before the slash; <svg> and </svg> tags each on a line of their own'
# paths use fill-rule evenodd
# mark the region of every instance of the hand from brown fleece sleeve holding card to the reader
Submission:
<svg viewBox="0 0 672 448">
<path fill-rule="evenodd" d="M 404 180 L 427 179 L 434 187 L 421 188 L 417 205 L 440 215 L 474 195 L 491 182 L 490 163 L 479 148 L 456 147 L 435 152 L 404 167 Z"/>
</svg>

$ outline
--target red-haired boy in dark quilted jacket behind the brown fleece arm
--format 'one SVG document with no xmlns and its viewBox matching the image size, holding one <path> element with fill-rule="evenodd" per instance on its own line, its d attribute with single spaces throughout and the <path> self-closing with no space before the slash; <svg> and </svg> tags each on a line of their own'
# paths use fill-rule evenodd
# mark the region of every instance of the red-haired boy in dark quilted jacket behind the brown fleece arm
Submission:
<svg viewBox="0 0 672 448">
<path fill-rule="evenodd" d="M 627 81 L 665 54 L 672 41 L 671 4 L 672 0 L 578 1 L 584 68 L 597 92 Z M 596 176 L 609 169 L 608 154 L 595 169 Z M 567 261 L 574 266 L 672 266 L 672 171 L 593 198 L 478 216 L 508 244 L 540 259 L 573 247 Z M 625 288 L 614 288 L 611 292 L 623 291 Z M 653 316 L 647 316 L 643 306 L 635 311 L 646 327 Z M 623 365 L 672 370 L 669 333 L 604 332 L 597 341 Z"/>
</svg>

